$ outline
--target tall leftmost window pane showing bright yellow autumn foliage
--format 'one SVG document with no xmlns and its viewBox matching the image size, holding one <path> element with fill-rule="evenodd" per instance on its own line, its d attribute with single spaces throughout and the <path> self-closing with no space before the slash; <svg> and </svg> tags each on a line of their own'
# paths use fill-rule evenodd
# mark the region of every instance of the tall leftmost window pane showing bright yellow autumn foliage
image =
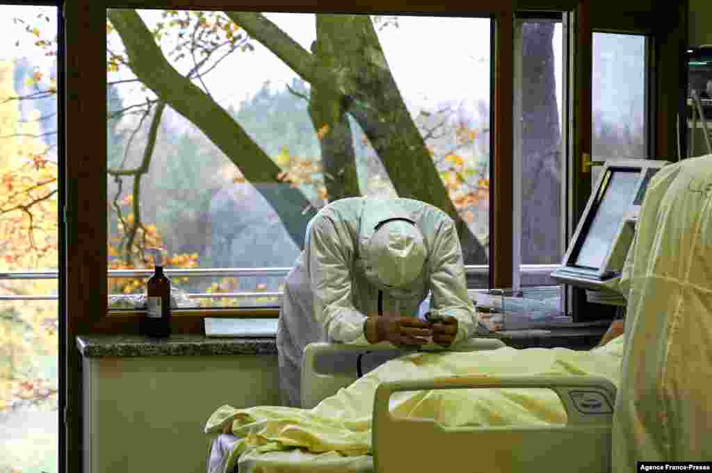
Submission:
<svg viewBox="0 0 712 473">
<path fill-rule="evenodd" d="M 58 468 L 57 14 L 0 5 L 0 472 Z"/>
</svg>

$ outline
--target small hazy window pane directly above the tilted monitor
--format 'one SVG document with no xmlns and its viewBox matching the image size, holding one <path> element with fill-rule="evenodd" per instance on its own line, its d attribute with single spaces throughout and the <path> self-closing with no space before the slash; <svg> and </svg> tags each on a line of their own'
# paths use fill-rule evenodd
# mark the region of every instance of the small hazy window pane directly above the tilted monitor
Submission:
<svg viewBox="0 0 712 473">
<path fill-rule="evenodd" d="M 592 142 L 597 161 L 647 158 L 646 37 L 593 33 Z M 600 166 L 592 167 L 592 184 Z"/>
</svg>

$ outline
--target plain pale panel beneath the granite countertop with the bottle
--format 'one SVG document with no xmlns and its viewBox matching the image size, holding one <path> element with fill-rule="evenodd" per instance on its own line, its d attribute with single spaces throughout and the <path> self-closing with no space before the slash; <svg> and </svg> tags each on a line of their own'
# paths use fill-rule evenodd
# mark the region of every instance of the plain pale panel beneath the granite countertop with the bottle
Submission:
<svg viewBox="0 0 712 473">
<path fill-rule="evenodd" d="M 85 473 L 204 473 L 217 408 L 279 404 L 276 355 L 90 358 L 84 369 Z"/>
</svg>

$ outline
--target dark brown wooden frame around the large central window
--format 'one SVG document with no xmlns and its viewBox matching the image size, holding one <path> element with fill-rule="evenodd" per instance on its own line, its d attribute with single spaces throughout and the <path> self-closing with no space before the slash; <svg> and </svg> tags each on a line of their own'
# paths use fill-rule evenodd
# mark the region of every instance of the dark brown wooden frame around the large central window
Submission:
<svg viewBox="0 0 712 473">
<path fill-rule="evenodd" d="M 493 156 L 491 162 L 491 242 L 511 235 L 512 231 L 512 68 L 514 11 L 537 9 L 568 11 L 575 1 L 498 1 L 478 2 L 476 8 L 463 9 L 461 4 L 445 2 L 438 5 L 412 6 L 404 0 L 391 0 L 375 10 L 359 1 L 330 7 L 330 13 L 363 14 L 435 14 L 458 16 L 486 16 L 493 21 L 493 78 L 491 134 Z M 313 13 L 326 11 L 314 1 L 296 0 L 289 3 L 271 0 L 256 7 L 254 2 L 226 0 L 77 0 L 66 6 L 67 31 L 67 203 L 65 213 L 68 234 L 67 275 L 68 301 L 71 307 L 68 327 L 73 334 L 136 334 L 141 312 L 108 311 L 106 163 L 90 156 L 90 149 L 106 149 L 105 129 L 88 117 L 105 115 L 105 104 L 82 101 L 85 96 L 105 96 L 105 24 L 107 8 L 172 8 L 194 10 L 290 11 Z M 80 28 L 71 28 L 80 25 Z M 103 37 L 99 38 L 100 35 Z M 82 45 L 76 48 L 74 45 Z M 88 46 L 90 45 L 90 46 Z M 100 53 L 101 50 L 101 53 Z M 72 53 L 80 51 L 80 53 Z M 101 95 L 103 94 L 103 95 Z M 75 118 L 76 117 L 76 118 Z M 73 127 L 73 124 L 81 126 Z M 94 128 L 94 129 L 93 129 Z M 96 198 L 96 196 L 103 196 Z M 81 209 L 81 211 L 79 211 Z M 501 235 L 501 238 L 500 236 Z M 512 282 L 512 249 L 493 245 L 490 254 L 491 287 L 510 287 Z M 204 317 L 277 317 L 278 309 L 209 309 L 178 310 L 174 312 L 174 333 L 202 333 Z"/>
</svg>

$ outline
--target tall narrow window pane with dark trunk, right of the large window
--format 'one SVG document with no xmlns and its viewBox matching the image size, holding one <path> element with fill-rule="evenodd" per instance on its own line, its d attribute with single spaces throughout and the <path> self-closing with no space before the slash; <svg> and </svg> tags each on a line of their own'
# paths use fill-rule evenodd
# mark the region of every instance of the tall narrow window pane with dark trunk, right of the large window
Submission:
<svg viewBox="0 0 712 473">
<path fill-rule="evenodd" d="M 562 23 L 517 22 L 515 42 L 514 153 L 515 260 L 520 286 L 555 285 L 562 206 Z M 516 225 L 515 225 L 515 230 Z M 558 288 L 552 289 L 558 294 Z"/>
</svg>

